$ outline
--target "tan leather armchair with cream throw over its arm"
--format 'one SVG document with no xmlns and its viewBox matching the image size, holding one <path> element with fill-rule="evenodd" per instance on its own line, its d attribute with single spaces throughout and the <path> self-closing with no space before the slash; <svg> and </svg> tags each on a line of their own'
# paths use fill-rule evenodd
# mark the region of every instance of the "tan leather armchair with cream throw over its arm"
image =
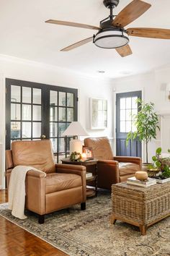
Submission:
<svg viewBox="0 0 170 256">
<path fill-rule="evenodd" d="M 6 184 L 15 166 L 32 166 L 26 176 L 25 208 L 37 213 L 39 223 L 45 214 L 81 203 L 86 209 L 86 168 L 55 164 L 50 140 L 15 141 L 12 150 L 6 150 Z"/>
</svg>

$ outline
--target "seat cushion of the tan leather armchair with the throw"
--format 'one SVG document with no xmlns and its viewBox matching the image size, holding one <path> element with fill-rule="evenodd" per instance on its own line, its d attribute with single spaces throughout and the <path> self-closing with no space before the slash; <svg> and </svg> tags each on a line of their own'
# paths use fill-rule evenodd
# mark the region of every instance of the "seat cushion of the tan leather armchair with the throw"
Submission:
<svg viewBox="0 0 170 256">
<path fill-rule="evenodd" d="M 51 173 L 45 178 L 45 194 L 81 186 L 81 176 L 77 174 Z"/>
</svg>

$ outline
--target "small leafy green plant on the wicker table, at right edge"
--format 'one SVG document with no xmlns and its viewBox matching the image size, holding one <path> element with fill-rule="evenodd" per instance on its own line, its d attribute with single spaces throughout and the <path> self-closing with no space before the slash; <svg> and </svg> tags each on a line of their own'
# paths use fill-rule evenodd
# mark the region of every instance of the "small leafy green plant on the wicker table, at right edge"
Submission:
<svg viewBox="0 0 170 256">
<path fill-rule="evenodd" d="M 152 176 L 163 183 L 162 181 L 165 182 L 170 179 L 170 155 L 163 157 L 161 151 L 161 148 L 156 149 L 156 155 L 152 157 L 153 164 L 148 169 L 148 176 Z M 168 153 L 170 153 L 170 150 L 168 150 Z"/>
</svg>

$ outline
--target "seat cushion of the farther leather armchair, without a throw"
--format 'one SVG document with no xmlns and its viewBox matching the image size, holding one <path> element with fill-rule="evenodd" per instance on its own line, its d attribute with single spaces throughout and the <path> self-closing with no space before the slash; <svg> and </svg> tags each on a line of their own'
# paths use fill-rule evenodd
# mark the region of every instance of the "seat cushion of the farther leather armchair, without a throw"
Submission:
<svg viewBox="0 0 170 256">
<path fill-rule="evenodd" d="M 135 174 L 136 171 L 140 171 L 140 166 L 136 163 L 119 163 L 120 176 Z"/>
</svg>

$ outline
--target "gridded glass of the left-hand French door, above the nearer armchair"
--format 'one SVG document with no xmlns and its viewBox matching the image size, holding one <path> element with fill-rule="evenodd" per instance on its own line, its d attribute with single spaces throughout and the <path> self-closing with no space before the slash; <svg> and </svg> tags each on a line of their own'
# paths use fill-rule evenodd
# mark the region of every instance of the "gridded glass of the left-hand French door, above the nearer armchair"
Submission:
<svg viewBox="0 0 170 256">
<path fill-rule="evenodd" d="M 42 89 L 33 86 L 22 86 L 22 81 L 13 80 L 14 85 L 6 85 L 7 92 L 11 92 L 10 118 L 7 117 L 10 140 L 35 140 L 42 135 Z M 10 89 L 10 90 L 9 90 Z M 10 147 L 8 143 L 8 148 Z"/>
</svg>

